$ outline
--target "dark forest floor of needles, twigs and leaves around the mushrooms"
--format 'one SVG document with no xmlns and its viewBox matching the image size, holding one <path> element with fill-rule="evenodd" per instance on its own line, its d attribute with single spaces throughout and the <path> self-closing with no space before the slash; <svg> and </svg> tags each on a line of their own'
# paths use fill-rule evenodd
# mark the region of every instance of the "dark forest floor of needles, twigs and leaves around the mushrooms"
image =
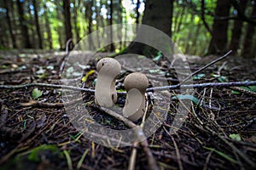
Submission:
<svg viewBox="0 0 256 170">
<path fill-rule="evenodd" d="M 1 51 L 0 85 L 59 85 L 64 55 L 52 51 Z M 216 56 L 191 60 L 191 71 L 212 59 Z M 95 64 L 85 68 L 84 74 L 95 70 Z M 255 65 L 255 60 L 230 56 L 202 71 L 194 77 L 194 83 L 255 81 Z M 94 89 L 95 78 L 96 71 L 87 74 L 85 88 Z M 169 129 L 178 101 L 171 98 L 166 120 L 147 139 L 148 145 L 111 148 L 85 138 L 73 126 L 62 105 L 61 89 L 0 88 L 0 169 L 132 169 L 132 161 L 135 169 L 149 169 L 152 159 L 160 169 L 255 169 L 255 86 L 242 89 L 196 89 L 186 121 L 175 133 L 169 133 Z M 107 127 L 119 123 L 93 106 L 93 94 L 84 93 L 83 98 L 96 122 Z M 118 100 L 123 105 L 124 99 Z"/>
</svg>

